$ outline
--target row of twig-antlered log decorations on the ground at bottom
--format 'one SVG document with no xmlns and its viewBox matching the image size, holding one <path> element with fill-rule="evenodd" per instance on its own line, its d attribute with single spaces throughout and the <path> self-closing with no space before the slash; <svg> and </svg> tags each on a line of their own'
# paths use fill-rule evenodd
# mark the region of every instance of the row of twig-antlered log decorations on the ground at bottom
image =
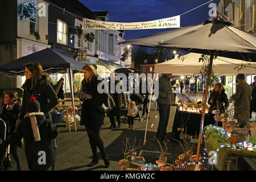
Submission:
<svg viewBox="0 0 256 182">
<path fill-rule="evenodd" d="M 155 138 L 156 139 L 156 138 Z M 191 143 L 192 137 L 185 137 L 182 139 L 182 143 L 179 140 L 181 148 L 183 148 L 183 154 L 180 154 L 175 159 L 174 164 L 167 163 L 167 143 L 157 142 L 159 144 L 159 158 L 156 159 L 155 164 L 148 164 L 145 162 L 143 156 L 137 156 L 137 150 L 139 147 L 135 146 L 135 140 L 132 144 L 129 143 L 129 139 L 126 138 L 125 150 L 123 150 L 124 159 L 119 160 L 121 165 L 120 171 L 202 171 L 205 170 L 204 164 L 195 162 L 196 155 L 193 155 L 193 146 Z M 201 156 L 200 156 L 201 160 Z"/>
</svg>

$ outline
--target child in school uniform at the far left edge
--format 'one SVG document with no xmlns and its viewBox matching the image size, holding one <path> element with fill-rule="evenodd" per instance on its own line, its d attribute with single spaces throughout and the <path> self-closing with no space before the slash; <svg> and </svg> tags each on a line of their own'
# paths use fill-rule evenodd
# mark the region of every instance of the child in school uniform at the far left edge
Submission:
<svg viewBox="0 0 256 182">
<path fill-rule="evenodd" d="M 5 97 L 3 98 L 3 107 L 1 110 L 1 114 L 8 121 L 7 125 L 7 137 L 12 135 L 15 131 L 15 124 L 18 119 L 18 115 L 20 113 L 20 105 L 19 103 L 15 103 L 18 100 L 18 93 L 14 91 L 5 92 Z M 10 145 L 10 153 L 13 155 L 13 158 L 16 162 L 16 167 L 18 171 L 22 171 L 22 167 L 19 161 L 19 153 L 17 151 L 19 142 L 13 142 Z"/>
</svg>

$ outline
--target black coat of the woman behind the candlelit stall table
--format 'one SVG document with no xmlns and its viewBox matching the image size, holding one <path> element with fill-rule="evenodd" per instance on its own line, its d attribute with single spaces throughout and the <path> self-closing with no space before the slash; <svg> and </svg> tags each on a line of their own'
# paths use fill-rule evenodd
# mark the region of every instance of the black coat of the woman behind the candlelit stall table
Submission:
<svg viewBox="0 0 256 182">
<path fill-rule="evenodd" d="M 210 100 L 213 100 L 213 103 L 210 103 Z M 210 97 L 208 99 L 208 104 L 210 105 L 209 110 L 217 110 L 217 101 L 218 101 L 218 106 L 220 106 L 219 110 L 221 113 L 225 111 L 225 108 L 227 109 L 229 106 L 229 101 L 228 101 L 228 96 L 226 96 L 225 90 L 222 90 L 221 93 L 218 91 L 214 91 L 210 93 Z M 222 102 L 222 104 L 221 104 Z"/>
</svg>

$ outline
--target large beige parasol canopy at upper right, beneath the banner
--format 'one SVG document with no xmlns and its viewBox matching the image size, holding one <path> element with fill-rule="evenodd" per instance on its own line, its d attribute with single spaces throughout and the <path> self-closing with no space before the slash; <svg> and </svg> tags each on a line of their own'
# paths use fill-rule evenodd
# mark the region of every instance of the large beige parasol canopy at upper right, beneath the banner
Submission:
<svg viewBox="0 0 256 182">
<path fill-rule="evenodd" d="M 240 60 L 256 61 L 256 36 L 222 18 L 127 40 L 119 44 L 144 47 L 176 48 L 189 52 L 214 54 Z"/>
</svg>

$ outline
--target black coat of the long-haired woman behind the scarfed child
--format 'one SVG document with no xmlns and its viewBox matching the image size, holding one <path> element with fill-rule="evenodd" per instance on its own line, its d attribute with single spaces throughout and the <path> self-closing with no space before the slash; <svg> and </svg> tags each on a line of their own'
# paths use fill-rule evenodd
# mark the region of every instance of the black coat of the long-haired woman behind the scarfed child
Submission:
<svg viewBox="0 0 256 182">
<path fill-rule="evenodd" d="M 32 90 L 30 90 L 31 79 L 26 80 L 26 82 L 22 85 L 24 93 L 19 119 L 23 120 L 23 117 L 26 114 L 26 103 L 31 96 L 36 97 L 36 100 L 40 103 L 40 111 L 49 117 L 51 109 L 59 103 L 56 92 L 53 90 L 50 83 L 51 77 L 44 74 L 42 75 L 42 78 L 39 80 L 38 84 L 35 85 Z"/>
</svg>

